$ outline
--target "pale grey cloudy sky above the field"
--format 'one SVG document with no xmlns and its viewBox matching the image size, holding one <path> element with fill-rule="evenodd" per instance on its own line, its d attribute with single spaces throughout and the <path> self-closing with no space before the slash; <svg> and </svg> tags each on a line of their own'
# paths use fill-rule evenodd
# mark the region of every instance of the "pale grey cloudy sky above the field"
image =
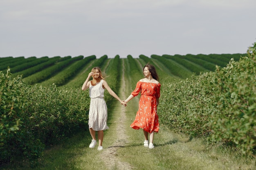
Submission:
<svg viewBox="0 0 256 170">
<path fill-rule="evenodd" d="M 246 53 L 256 0 L 0 0 L 0 57 Z"/>
</svg>

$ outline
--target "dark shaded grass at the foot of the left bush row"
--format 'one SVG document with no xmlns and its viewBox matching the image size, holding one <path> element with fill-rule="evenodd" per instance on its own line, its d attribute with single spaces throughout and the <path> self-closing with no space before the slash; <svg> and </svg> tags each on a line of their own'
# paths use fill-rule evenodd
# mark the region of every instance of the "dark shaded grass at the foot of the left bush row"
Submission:
<svg viewBox="0 0 256 170">
<path fill-rule="evenodd" d="M 63 139 L 60 144 L 47 146 L 33 166 L 28 159 L 16 155 L 11 162 L 0 165 L 0 170 L 76 170 L 76 157 L 82 155 L 83 148 L 89 147 L 91 142 L 89 130 L 83 130 Z"/>
</svg>

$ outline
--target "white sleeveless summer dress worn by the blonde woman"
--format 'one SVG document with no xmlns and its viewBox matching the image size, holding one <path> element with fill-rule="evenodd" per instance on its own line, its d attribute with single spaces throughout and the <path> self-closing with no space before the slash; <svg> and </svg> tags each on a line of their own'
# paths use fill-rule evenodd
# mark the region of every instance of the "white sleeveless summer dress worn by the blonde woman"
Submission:
<svg viewBox="0 0 256 170">
<path fill-rule="evenodd" d="M 89 128 L 95 131 L 106 130 L 108 109 L 107 104 L 104 100 L 105 88 L 102 88 L 103 79 L 95 86 L 90 83 L 89 95 L 91 98 L 90 109 L 89 109 Z"/>
</svg>

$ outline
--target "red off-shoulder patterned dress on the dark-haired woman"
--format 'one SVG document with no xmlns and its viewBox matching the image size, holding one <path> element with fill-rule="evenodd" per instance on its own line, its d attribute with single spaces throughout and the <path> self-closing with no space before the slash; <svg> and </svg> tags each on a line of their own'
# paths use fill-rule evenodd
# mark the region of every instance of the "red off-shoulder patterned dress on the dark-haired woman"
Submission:
<svg viewBox="0 0 256 170">
<path fill-rule="evenodd" d="M 133 97 L 141 92 L 139 99 L 139 110 L 135 120 L 130 125 L 131 128 L 138 130 L 142 128 L 146 132 L 158 132 L 159 122 L 157 115 L 157 100 L 160 97 L 161 84 L 137 82 L 135 90 L 131 93 Z"/>
</svg>

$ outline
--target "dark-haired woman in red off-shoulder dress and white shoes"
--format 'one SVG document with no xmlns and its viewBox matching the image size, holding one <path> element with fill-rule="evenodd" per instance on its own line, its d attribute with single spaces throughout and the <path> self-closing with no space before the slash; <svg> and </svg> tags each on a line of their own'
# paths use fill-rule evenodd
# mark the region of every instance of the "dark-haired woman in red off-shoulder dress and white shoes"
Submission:
<svg viewBox="0 0 256 170">
<path fill-rule="evenodd" d="M 142 128 L 145 136 L 144 146 L 152 149 L 155 147 L 153 145 L 154 132 L 158 132 L 159 130 L 157 105 L 159 103 L 161 84 L 158 82 L 159 78 L 153 65 L 147 64 L 144 66 L 143 73 L 145 78 L 137 82 L 135 90 L 124 102 L 128 103 L 139 92 L 141 93 L 139 110 L 130 127 L 136 130 Z M 148 133 L 150 134 L 149 144 Z"/>
</svg>

